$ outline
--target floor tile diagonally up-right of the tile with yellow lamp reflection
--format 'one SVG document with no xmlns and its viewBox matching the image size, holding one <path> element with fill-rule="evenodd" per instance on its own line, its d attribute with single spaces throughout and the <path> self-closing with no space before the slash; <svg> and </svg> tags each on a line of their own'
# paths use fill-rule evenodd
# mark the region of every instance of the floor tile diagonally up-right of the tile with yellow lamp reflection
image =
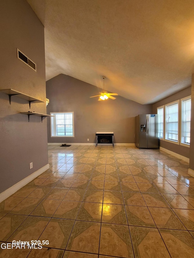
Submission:
<svg viewBox="0 0 194 258">
<path fill-rule="evenodd" d="M 146 206 L 146 203 L 142 197 L 141 193 L 137 192 L 122 192 L 124 203 L 126 205 L 135 205 L 135 206 Z"/>
</svg>

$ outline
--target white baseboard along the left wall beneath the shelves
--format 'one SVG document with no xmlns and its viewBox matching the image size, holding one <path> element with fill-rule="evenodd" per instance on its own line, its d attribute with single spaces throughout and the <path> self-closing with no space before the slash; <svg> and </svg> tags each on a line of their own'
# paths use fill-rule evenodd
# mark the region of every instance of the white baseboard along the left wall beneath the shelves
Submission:
<svg viewBox="0 0 194 258">
<path fill-rule="evenodd" d="M 41 175 L 47 169 L 49 169 L 49 164 L 47 164 L 44 167 L 38 169 L 37 171 L 35 171 L 31 175 L 27 176 L 26 178 L 22 179 L 21 181 L 19 181 L 15 185 L 12 185 L 10 188 L 5 190 L 4 192 L 0 193 L 0 202 L 4 201 L 6 198 L 8 198 L 10 195 L 14 194 L 20 188 L 27 185 L 30 181 L 32 181 L 37 176 Z"/>
</svg>

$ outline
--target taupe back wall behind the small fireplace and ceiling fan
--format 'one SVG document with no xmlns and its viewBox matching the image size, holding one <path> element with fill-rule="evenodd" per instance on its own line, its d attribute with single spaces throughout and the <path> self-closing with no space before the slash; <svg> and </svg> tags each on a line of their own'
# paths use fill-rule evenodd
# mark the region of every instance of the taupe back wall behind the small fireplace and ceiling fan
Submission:
<svg viewBox="0 0 194 258">
<path fill-rule="evenodd" d="M 75 122 L 74 138 L 58 138 L 50 137 L 48 119 L 48 142 L 94 143 L 96 132 L 111 131 L 115 143 L 134 143 L 135 116 L 151 113 L 152 105 L 141 105 L 121 96 L 105 101 L 90 98 L 101 90 L 65 74 L 47 81 L 46 95 L 50 99 L 47 113 L 74 111 Z"/>
</svg>

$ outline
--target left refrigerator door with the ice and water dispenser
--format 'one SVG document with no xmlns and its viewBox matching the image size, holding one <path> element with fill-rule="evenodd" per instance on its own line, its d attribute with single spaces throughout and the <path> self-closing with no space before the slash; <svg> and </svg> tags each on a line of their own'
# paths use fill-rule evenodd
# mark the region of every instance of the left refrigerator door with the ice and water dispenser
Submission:
<svg viewBox="0 0 194 258">
<path fill-rule="evenodd" d="M 139 115 L 139 148 L 148 148 L 147 115 Z"/>
</svg>

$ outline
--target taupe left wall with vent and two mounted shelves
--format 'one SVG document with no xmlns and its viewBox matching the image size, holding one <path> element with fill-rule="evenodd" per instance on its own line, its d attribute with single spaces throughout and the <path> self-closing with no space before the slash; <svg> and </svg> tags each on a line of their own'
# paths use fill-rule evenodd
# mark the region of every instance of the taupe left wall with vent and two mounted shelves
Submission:
<svg viewBox="0 0 194 258">
<path fill-rule="evenodd" d="M 0 1 L 1 83 L 45 101 L 44 27 L 25 0 Z M 17 48 L 37 65 L 37 72 L 17 58 Z M 0 93 L 0 192 L 48 164 L 46 119 L 20 114 L 29 111 L 25 100 Z M 45 113 L 45 103 L 31 104 Z M 29 163 L 33 168 L 29 169 Z"/>
</svg>

